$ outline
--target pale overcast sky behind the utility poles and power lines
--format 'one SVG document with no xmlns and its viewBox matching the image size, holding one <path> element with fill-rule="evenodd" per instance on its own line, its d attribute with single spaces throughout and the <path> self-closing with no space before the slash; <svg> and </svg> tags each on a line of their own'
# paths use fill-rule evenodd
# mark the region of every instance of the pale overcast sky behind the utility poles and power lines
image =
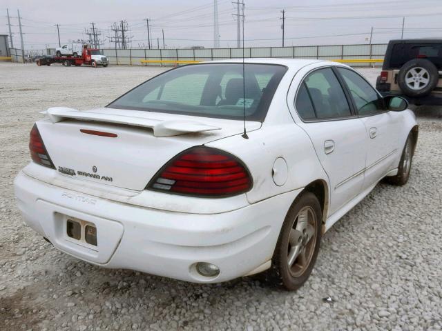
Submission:
<svg viewBox="0 0 442 331">
<path fill-rule="evenodd" d="M 236 0 L 233 0 L 236 1 Z M 281 46 L 280 10 L 285 9 L 285 45 L 329 45 L 341 43 L 386 43 L 401 37 L 442 37 L 442 0 L 244 0 L 245 46 Z M 151 21 L 153 45 L 157 47 L 162 29 L 166 48 L 213 46 L 213 0 L 1 0 L 0 34 L 8 34 L 9 8 L 14 46 L 19 48 L 17 9 L 23 24 L 26 49 L 58 46 L 87 39 L 91 22 L 102 32 L 104 47 L 111 44 L 109 27 L 126 20 L 133 48 L 147 45 L 146 21 Z M 220 46 L 236 47 L 236 5 L 219 0 Z"/>
</svg>

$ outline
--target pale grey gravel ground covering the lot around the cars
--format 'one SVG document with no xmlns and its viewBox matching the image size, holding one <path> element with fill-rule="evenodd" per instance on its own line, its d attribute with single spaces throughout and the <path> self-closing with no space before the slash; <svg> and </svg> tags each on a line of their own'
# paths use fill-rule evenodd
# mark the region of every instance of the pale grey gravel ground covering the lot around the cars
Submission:
<svg viewBox="0 0 442 331">
<path fill-rule="evenodd" d="M 442 330 L 441 108 L 415 110 L 409 183 L 379 184 L 336 223 L 297 292 L 98 268 L 23 225 L 12 181 L 38 112 L 103 106 L 159 72 L 0 63 L 0 330 Z"/>
</svg>

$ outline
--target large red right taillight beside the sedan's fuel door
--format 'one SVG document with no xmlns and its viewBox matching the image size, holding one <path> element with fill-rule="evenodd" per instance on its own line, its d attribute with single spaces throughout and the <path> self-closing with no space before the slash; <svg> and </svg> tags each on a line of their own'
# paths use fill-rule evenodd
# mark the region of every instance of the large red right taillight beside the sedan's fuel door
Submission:
<svg viewBox="0 0 442 331">
<path fill-rule="evenodd" d="M 238 158 L 199 146 L 171 159 L 146 188 L 195 197 L 227 197 L 247 192 L 251 185 L 250 174 Z"/>
</svg>

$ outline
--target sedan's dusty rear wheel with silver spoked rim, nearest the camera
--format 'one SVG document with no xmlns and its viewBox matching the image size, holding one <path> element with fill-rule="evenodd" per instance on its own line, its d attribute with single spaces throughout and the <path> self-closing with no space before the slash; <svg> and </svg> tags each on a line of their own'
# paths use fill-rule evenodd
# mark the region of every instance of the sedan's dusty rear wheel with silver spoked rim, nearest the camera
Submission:
<svg viewBox="0 0 442 331">
<path fill-rule="evenodd" d="M 303 193 L 285 217 L 273 252 L 269 280 L 287 290 L 297 290 L 307 281 L 318 256 L 322 212 L 318 198 Z"/>
</svg>

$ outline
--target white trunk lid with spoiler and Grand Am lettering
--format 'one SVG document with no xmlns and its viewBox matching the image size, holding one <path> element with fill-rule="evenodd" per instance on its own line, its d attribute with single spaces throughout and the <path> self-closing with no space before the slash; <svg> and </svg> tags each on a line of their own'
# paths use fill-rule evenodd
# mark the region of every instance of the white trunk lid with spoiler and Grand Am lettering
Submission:
<svg viewBox="0 0 442 331">
<path fill-rule="evenodd" d="M 50 108 L 47 114 L 49 119 L 38 121 L 37 127 L 61 175 L 130 190 L 143 190 L 183 150 L 244 130 L 242 121 L 137 110 Z M 260 126 L 246 123 L 247 131 Z"/>
</svg>

